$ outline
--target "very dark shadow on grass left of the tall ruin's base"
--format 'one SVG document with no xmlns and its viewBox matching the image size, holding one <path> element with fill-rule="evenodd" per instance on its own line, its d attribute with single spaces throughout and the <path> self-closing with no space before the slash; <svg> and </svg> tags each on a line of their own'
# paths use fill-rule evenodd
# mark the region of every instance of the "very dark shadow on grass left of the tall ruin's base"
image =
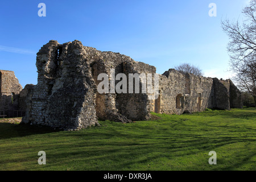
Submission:
<svg viewBox="0 0 256 182">
<path fill-rule="evenodd" d="M 28 135 L 58 132 L 47 126 L 31 126 L 23 123 L 0 123 L 0 139 L 26 137 Z"/>
</svg>

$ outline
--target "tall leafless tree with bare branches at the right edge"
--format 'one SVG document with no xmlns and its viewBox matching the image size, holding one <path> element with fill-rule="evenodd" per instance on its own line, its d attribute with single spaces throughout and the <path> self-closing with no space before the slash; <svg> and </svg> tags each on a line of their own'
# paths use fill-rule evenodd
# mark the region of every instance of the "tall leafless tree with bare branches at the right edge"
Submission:
<svg viewBox="0 0 256 182">
<path fill-rule="evenodd" d="M 242 14 L 246 18 L 242 23 L 224 20 L 221 24 L 230 39 L 227 49 L 237 86 L 249 92 L 256 104 L 256 0 L 251 0 Z"/>
</svg>

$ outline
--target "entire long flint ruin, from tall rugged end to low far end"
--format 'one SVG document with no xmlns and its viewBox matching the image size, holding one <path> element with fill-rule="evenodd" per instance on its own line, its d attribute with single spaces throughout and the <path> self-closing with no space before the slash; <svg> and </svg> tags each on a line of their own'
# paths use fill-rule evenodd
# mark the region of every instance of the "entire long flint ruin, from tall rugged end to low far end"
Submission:
<svg viewBox="0 0 256 182">
<path fill-rule="evenodd" d="M 156 68 L 114 52 L 101 52 L 75 40 L 49 41 L 37 53 L 38 84 L 26 85 L 19 101 L 26 108 L 23 123 L 77 130 L 98 125 L 98 119 L 131 122 L 150 113 L 183 114 L 206 108 L 242 107 L 241 93 L 231 80 L 218 80 Z M 148 93 L 99 93 L 100 73 L 148 73 L 159 77 L 158 98 Z M 115 85 L 118 81 L 115 81 Z M 142 80 L 139 80 L 142 87 Z M 154 81 L 152 81 L 154 86 Z M 142 89 L 142 88 L 140 88 Z"/>
</svg>

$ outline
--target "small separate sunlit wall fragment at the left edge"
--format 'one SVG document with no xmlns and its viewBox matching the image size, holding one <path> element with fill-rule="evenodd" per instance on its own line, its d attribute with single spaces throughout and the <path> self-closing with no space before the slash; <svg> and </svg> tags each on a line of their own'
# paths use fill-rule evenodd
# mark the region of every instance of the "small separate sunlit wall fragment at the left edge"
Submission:
<svg viewBox="0 0 256 182">
<path fill-rule="evenodd" d="M 22 86 L 13 71 L 0 70 L 0 111 L 19 110 L 18 98 Z"/>
</svg>

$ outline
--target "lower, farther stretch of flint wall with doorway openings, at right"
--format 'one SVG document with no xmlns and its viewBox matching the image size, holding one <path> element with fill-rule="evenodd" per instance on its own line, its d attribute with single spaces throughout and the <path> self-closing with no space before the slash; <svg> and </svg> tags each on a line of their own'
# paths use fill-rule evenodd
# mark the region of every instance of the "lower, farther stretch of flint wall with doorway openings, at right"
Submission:
<svg viewBox="0 0 256 182">
<path fill-rule="evenodd" d="M 160 96 L 155 100 L 156 113 L 182 114 L 206 108 L 229 110 L 241 108 L 241 92 L 231 80 L 218 80 L 169 69 L 159 75 Z"/>
</svg>

